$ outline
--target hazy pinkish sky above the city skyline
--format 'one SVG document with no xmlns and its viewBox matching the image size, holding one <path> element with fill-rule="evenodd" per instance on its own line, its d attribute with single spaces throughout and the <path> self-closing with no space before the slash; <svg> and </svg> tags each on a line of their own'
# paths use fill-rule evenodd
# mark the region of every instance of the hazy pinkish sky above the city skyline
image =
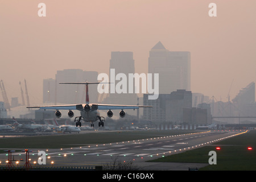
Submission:
<svg viewBox="0 0 256 182">
<path fill-rule="evenodd" d="M 46 17 L 38 4 L 46 4 Z M 209 3 L 217 17 L 209 17 Z M 9 101 L 27 80 L 31 105 L 57 70 L 109 73 L 111 51 L 132 51 L 147 73 L 149 51 L 191 52 L 191 90 L 227 100 L 256 81 L 255 0 L 0 0 L 0 79 Z M 2 100 L 2 96 L 0 96 Z"/>
</svg>

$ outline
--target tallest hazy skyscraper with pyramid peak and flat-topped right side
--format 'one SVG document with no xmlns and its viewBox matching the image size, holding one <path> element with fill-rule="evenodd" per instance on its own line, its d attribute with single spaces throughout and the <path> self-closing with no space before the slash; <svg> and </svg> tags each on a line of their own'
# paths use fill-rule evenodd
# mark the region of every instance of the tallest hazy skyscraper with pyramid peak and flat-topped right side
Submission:
<svg viewBox="0 0 256 182">
<path fill-rule="evenodd" d="M 161 42 L 150 50 L 148 73 L 159 73 L 159 94 L 191 89 L 190 52 L 168 51 Z"/>
</svg>

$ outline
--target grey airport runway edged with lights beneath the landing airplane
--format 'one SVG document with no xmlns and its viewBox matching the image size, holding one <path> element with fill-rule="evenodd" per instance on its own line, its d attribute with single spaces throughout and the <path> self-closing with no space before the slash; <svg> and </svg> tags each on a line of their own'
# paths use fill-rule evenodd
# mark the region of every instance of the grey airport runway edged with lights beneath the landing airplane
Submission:
<svg viewBox="0 0 256 182">
<path fill-rule="evenodd" d="M 160 158 L 162 156 L 176 154 L 185 150 L 202 147 L 207 144 L 213 144 L 222 139 L 233 137 L 244 131 L 206 131 L 200 133 L 191 133 L 183 135 L 170 135 L 166 137 L 155 137 L 141 140 L 130 140 L 117 143 L 92 144 L 90 146 L 77 146 L 73 148 L 59 149 L 31 149 L 30 163 L 38 166 L 38 151 L 46 152 L 45 166 L 106 166 L 112 164 L 116 159 L 121 163 L 133 162 L 139 170 L 183 170 L 188 169 L 188 164 L 170 163 L 148 163 L 147 160 Z M 25 159 L 24 152 L 13 152 L 14 159 Z M 0 160 L 5 161 L 8 158 L 6 154 L 0 154 Z M 54 162 L 51 164 L 51 162 Z M 15 165 L 15 164 L 14 164 Z M 24 162 L 20 162 L 20 166 Z M 192 165 L 192 164 L 191 164 Z M 205 164 L 198 164 L 203 167 Z M 200 166 L 201 165 L 201 166 Z M 193 167 L 193 166 L 190 166 Z"/>
</svg>

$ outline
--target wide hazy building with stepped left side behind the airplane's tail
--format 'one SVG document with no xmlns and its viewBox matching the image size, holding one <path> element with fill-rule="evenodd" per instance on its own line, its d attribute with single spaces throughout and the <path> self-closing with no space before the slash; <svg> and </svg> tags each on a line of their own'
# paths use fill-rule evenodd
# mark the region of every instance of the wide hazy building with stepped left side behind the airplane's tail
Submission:
<svg viewBox="0 0 256 182">
<path fill-rule="evenodd" d="M 82 71 L 82 69 L 64 69 L 57 71 L 55 79 L 43 81 L 43 102 L 60 104 L 85 103 L 85 85 L 64 85 L 60 82 L 98 82 L 98 72 Z M 97 102 L 97 85 L 89 86 L 89 101 Z"/>
</svg>

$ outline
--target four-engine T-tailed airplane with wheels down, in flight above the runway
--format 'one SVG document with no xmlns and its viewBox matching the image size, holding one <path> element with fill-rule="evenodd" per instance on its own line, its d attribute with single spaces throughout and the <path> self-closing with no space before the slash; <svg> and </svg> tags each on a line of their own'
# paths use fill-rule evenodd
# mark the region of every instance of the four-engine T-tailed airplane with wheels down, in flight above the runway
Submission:
<svg viewBox="0 0 256 182">
<path fill-rule="evenodd" d="M 76 126 L 81 127 L 81 120 L 85 122 L 90 122 L 91 127 L 94 126 L 93 122 L 98 122 L 98 126 L 104 127 L 105 118 L 100 116 L 98 110 L 108 110 L 107 115 L 108 117 L 113 116 L 114 109 L 121 110 L 119 112 L 119 116 L 121 118 L 125 117 L 124 109 L 139 109 L 140 107 L 152 107 L 152 106 L 138 106 L 138 105 L 109 105 L 109 104 L 90 104 L 89 103 L 89 92 L 88 92 L 88 85 L 89 84 L 110 84 L 111 82 L 61 82 L 59 84 L 84 84 L 86 86 L 86 102 L 85 104 L 75 104 L 75 105 L 52 105 L 52 106 L 28 106 L 27 108 L 39 108 L 43 110 L 56 110 L 55 116 L 57 118 L 61 117 L 60 110 L 69 110 L 68 116 L 72 118 L 74 113 L 72 110 L 79 110 L 80 116 L 75 117 Z"/>
</svg>

